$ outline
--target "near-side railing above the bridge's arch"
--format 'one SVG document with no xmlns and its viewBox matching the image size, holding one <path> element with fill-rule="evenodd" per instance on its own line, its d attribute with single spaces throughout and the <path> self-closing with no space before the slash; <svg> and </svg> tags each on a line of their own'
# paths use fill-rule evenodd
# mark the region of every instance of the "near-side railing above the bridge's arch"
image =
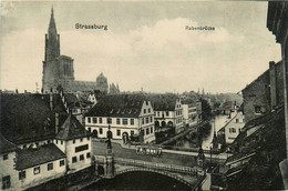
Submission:
<svg viewBox="0 0 288 191">
<path fill-rule="evenodd" d="M 134 165 L 134 167 L 143 167 L 150 169 L 157 169 L 157 170 L 166 170 L 172 172 L 181 172 L 191 175 L 196 175 L 196 168 L 191 167 L 183 167 L 183 165 L 175 165 L 175 164 L 165 164 L 165 163 L 155 163 L 155 162 L 147 162 L 134 159 L 124 159 L 124 158 L 114 158 L 116 163 Z"/>
</svg>

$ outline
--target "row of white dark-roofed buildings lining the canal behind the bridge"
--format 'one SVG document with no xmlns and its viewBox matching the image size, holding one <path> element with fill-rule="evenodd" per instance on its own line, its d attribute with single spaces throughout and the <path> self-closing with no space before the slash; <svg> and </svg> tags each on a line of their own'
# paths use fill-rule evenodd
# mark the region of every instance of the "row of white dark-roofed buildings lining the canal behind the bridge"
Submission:
<svg viewBox="0 0 288 191">
<path fill-rule="evenodd" d="M 90 98 L 91 99 L 91 98 Z M 175 94 L 115 94 L 99 99 L 85 113 L 85 128 L 97 138 L 155 141 L 155 132 L 193 127 L 200 114 L 200 102 L 184 104 Z"/>
</svg>

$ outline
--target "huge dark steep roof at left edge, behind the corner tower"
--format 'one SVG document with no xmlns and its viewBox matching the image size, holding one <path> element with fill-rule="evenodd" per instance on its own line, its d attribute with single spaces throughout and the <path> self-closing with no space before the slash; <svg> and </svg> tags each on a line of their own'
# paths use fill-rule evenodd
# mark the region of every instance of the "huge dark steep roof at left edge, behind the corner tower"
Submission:
<svg viewBox="0 0 288 191">
<path fill-rule="evenodd" d="M 16 144 L 53 138 L 55 112 L 60 125 L 66 118 L 59 94 L 53 94 L 53 110 L 49 94 L 1 93 L 0 98 L 0 132 Z"/>
</svg>

